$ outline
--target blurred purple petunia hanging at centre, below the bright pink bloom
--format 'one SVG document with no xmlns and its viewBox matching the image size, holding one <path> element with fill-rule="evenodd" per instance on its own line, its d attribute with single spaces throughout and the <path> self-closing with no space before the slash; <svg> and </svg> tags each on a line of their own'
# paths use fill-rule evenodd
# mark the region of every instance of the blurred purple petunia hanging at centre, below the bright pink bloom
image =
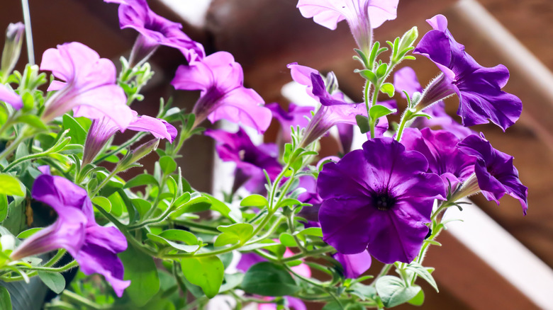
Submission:
<svg viewBox="0 0 553 310">
<path fill-rule="evenodd" d="M 271 180 L 277 178 L 282 170 L 277 160 L 277 146 L 274 144 L 255 146 L 242 128 L 235 133 L 206 130 L 205 134 L 216 140 L 216 150 L 220 159 L 236 163 L 233 191 L 243 185 L 252 193 L 262 193 L 266 182 L 263 169 L 267 171 Z"/>
</svg>

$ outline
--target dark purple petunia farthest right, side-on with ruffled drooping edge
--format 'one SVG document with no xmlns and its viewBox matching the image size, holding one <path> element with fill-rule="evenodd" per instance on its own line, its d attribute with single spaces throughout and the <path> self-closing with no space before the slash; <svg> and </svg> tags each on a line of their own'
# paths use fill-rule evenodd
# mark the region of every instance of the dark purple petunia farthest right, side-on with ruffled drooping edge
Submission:
<svg viewBox="0 0 553 310">
<path fill-rule="evenodd" d="M 493 149 L 490 142 L 484 138 L 484 134 L 481 134 L 481 137 L 472 134 L 459 142 L 457 147 L 464 154 L 476 158 L 476 180 L 487 200 L 499 204 L 499 199 L 508 194 L 520 201 L 526 215 L 528 188 L 518 178 L 518 170 L 513 166 L 513 156 Z"/>
</svg>

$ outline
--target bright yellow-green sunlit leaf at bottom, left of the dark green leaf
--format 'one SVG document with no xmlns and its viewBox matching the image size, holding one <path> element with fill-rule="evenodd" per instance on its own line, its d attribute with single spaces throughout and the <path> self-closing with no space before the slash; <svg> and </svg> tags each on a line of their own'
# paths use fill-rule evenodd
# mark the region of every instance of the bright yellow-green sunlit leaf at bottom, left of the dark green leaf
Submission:
<svg viewBox="0 0 553 310">
<path fill-rule="evenodd" d="M 201 287 L 208 298 L 219 292 L 225 266 L 217 256 L 182 258 L 181 269 L 186 280 Z"/>
</svg>

